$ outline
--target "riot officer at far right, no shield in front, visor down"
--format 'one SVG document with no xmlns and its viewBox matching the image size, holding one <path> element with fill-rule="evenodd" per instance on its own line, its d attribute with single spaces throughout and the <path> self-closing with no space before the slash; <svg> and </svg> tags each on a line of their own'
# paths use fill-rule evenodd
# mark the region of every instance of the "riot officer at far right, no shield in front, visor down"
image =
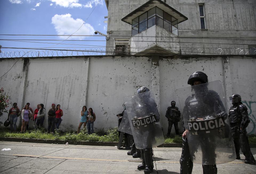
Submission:
<svg viewBox="0 0 256 174">
<path fill-rule="evenodd" d="M 229 122 L 231 133 L 235 145 L 236 159 L 241 159 L 239 150 L 241 144 L 241 151 L 245 155 L 246 164 L 255 164 L 255 159 L 251 153 L 251 149 L 248 142 L 246 127 L 250 123 L 248 117 L 247 107 L 241 102 L 241 96 L 233 94 L 230 97 L 233 106 L 229 109 Z"/>
</svg>

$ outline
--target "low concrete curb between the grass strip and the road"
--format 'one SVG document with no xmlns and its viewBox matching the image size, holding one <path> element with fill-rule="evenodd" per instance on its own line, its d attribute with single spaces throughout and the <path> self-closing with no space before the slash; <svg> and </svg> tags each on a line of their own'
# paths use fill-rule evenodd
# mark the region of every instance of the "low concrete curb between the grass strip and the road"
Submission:
<svg viewBox="0 0 256 174">
<path fill-rule="evenodd" d="M 54 143 L 69 145 L 87 145 L 87 146 L 117 146 L 118 142 L 85 142 L 85 141 L 63 141 L 63 140 L 47 140 L 47 139 L 29 139 L 29 138 L 8 138 L 0 137 L 0 141 L 26 142 L 26 143 Z M 182 147 L 182 143 L 162 144 L 157 147 Z"/>
</svg>

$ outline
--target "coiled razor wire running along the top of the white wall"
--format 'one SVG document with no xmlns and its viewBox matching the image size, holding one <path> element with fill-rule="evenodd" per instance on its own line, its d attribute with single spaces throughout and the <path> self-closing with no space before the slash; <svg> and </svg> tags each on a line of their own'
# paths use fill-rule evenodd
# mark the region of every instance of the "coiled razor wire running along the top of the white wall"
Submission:
<svg viewBox="0 0 256 174">
<path fill-rule="evenodd" d="M 25 48 L 24 48 L 25 49 Z M 127 48 L 130 50 L 130 47 Z M 126 50 L 127 50 L 126 49 Z M 176 53 L 158 53 L 158 49 L 154 48 L 137 48 L 150 50 L 150 54 L 163 54 L 163 55 L 178 55 Z M 175 49 L 175 48 L 174 48 Z M 154 50 L 152 53 L 151 50 Z M 168 49 L 166 49 L 168 51 Z M 147 52 L 143 52 L 144 54 Z M 176 52 L 177 50 L 175 50 Z M 63 57 L 63 56 L 103 56 L 103 55 L 129 55 L 138 52 L 127 52 L 116 50 L 114 48 L 95 48 L 95 49 L 84 49 L 84 50 L 61 50 L 61 49 L 38 49 L 33 51 L 12 51 L 12 52 L 1 52 L 0 58 L 22 58 L 22 57 Z M 256 48 L 181 48 L 180 54 L 183 55 L 256 55 Z"/>
</svg>

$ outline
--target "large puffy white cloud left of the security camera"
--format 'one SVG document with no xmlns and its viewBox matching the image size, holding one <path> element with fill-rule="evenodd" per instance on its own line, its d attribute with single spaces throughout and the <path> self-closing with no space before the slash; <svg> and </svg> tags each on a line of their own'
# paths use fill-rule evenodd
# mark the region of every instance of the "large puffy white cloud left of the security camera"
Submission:
<svg viewBox="0 0 256 174">
<path fill-rule="evenodd" d="M 51 23 L 58 35 L 71 35 L 84 23 L 82 19 L 74 19 L 71 14 L 65 15 L 54 15 L 51 18 Z M 94 28 L 88 23 L 83 24 L 83 26 L 74 35 L 92 35 L 94 33 Z M 61 39 L 66 39 L 67 36 L 59 36 Z M 69 39 L 84 39 L 84 36 L 71 36 Z"/>
</svg>

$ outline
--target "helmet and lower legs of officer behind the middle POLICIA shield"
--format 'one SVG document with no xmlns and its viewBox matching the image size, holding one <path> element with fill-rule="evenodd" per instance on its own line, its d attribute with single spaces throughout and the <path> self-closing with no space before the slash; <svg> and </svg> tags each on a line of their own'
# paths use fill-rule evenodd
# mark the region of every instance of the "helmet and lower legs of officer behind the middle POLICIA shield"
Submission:
<svg viewBox="0 0 256 174">
<path fill-rule="evenodd" d="M 142 86 L 137 89 L 137 94 L 149 91 L 148 88 Z M 138 170 L 144 170 L 144 173 L 151 173 L 153 171 L 153 149 L 145 148 L 141 150 L 142 164 L 138 165 Z"/>
</svg>

